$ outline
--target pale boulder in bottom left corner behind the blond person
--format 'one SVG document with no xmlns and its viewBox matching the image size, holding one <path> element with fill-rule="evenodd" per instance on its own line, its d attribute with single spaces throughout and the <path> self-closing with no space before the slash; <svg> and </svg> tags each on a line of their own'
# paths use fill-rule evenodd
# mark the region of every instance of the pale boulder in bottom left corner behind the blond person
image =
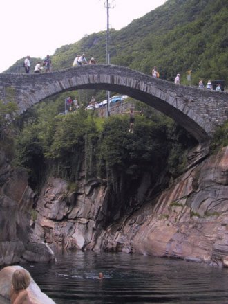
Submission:
<svg viewBox="0 0 228 304">
<path fill-rule="evenodd" d="M 0 303 L 6 300 L 5 303 L 9 303 L 7 301 L 10 300 L 10 287 L 12 274 L 16 269 L 23 269 L 21 266 L 7 266 L 0 271 Z M 26 269 L 25 269 L 26 270 Z M 49 298 L 44 292 L 41 292 L 39 286 L 35 283 L 34 280 L 31 281 L 28 286 L 28 292 L 31 297 L 35 299 L 37 304 L 55 304 L 55 302 Z M 3 302 L 4 303 L 4 302 Z"/>
</svg>

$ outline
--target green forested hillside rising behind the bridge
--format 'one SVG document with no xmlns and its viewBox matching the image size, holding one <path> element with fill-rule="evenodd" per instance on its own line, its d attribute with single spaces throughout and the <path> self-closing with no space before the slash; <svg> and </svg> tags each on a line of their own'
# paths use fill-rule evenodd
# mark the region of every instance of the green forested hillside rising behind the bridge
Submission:
<svg viewBox="0 0 228 304">
<path fill-rule="evenodd" d="M 157 66 L 160 77 L 173 80 L 176 73 L 193 84 L 199 78 L 228 80 L 228 24 L 226 0 L 168 0 L 163 6 L 136 19 L 122 30 L 111 30 L 111 63 L 151 73 Z M 106 61 L 106 33 L 93 33 L 79 42 L 57 48 L 53 69 L 72 66 L 77 53 L 87 59 Z M 32 58 L 32 64 L 37 60 Z M 22 59 L 8 72 L 22 72 Z"/>
</svg>

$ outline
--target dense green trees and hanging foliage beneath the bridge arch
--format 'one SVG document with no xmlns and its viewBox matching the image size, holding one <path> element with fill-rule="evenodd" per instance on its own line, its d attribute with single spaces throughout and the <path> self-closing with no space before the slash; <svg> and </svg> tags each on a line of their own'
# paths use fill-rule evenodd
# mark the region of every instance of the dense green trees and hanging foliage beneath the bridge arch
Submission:
<svg viewBox="0 0 228 304">
<path fill-rule="evenodd" d="M 184 170 L 180 155 L 195 144 L 173 120 L 140 102 L 135 107 L 145 115 L 136 114 L 133 134 L 128 132 L 129 114 L 104 119 L 79 109 L 56 115 L 62 104 L 63 96 L 34 107 L 17 138 L 17 164 L 28 170 L 34 188 L 45 169 L 77 182 L 83 162 L 86 179 L 101 177 L 114 188 L 120 179 L 137 182 L 144 172 L 154 181 L 162 170 L 174 177 Z"/>
</svg>

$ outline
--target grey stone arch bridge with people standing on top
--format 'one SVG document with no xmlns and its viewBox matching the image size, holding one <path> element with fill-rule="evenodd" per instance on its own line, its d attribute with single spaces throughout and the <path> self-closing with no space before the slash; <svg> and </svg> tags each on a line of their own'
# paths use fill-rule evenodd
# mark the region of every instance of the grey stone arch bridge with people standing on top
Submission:
<svg viewBox="0 0 228 304">
<path fill-rule="evenodd" d="M 176 86 L 124 66 L 88 64 L 52 73 L 0 74 L 0 100 L 15 101 L 22 114 L 55 94 L 101 89 L 126 94 L 173 118 L 199 142 L 228 119 L 227 93 Z"/>
</svg>

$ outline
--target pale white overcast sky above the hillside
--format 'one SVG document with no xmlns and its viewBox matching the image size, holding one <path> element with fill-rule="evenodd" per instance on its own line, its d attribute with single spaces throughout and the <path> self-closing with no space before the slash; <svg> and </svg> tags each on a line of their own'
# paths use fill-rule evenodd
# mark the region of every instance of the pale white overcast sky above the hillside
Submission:
<svg viewBox="0 0 228 304">
<path fill-rule="evenodd" d="M 109 27 L 120 30 L 166 0 L 109 0 Z M 0 73 L 26 55 L 45 57 L 106 30 L 106 0 L 1 0 Z"/>
</svg>

